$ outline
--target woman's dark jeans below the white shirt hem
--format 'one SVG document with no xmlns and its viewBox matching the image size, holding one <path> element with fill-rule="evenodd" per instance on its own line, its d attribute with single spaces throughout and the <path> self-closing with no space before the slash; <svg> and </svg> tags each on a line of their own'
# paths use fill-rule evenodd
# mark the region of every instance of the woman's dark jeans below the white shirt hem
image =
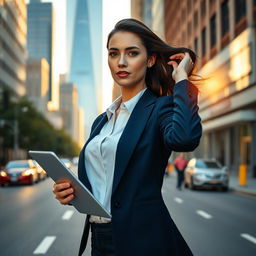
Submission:
<svg viewBox="0 0 256 256">
<path fill-rule="evenodd" d="M 112 223 L 91 223 L 91 232 L 91 256 L 115 256 L 115 246 L 112 235 Z"/>
</svg>

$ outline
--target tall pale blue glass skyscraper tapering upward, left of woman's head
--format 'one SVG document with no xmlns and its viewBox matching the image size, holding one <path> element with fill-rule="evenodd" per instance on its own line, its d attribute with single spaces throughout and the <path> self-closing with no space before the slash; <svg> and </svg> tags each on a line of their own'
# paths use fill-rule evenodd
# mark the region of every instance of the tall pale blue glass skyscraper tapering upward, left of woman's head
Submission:
<svg viewBox="0 0 256 256">
<path fill-rule="evenodd" d="M 96 12 L 99 11 L 96 9 Z M 93 15 L 90 17 L 93 19 Z M 79 105 L 85 113 L 86 131 L 89 131 L 92 120 L 98 114 L 90 22 L 88 1 L 67 2 L 67 79 L 77 85 Z M 101 40 L 101 35 L 95 36 Z M 101 64 L 99 64 L 99 75 L 101 75 Z"/>
</svg>

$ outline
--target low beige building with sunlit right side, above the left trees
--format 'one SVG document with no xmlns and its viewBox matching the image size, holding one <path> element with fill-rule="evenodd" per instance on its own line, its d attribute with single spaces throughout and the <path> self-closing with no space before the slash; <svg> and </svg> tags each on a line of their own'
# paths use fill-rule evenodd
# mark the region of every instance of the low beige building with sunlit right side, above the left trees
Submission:
<svg viewBox="0 0 256 256">
<path fill-rule="evenodd" d="M 47 112 L 49 64 L 46 59 L 27 61 L 27 97 L 41 113 Z"/>
</svg>

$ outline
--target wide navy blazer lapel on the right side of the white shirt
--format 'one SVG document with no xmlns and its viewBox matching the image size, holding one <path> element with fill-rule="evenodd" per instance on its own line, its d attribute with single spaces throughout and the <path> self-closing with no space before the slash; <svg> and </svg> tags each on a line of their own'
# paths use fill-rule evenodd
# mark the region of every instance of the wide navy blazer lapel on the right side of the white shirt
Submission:
<svg viewBox="0 0 256 256">
<path fill-rule="evenodd" d="M 150 113 L 153 110 L 153 103 L 156 101 L 156 98 L 157 97 L 149 89 L 145 91 L 133 109 L 133 112 L 119 139 L 116 151 L 112 194 L 114 194 L 124 174 L 133 150 L 144 130 Z"/>
</svg>

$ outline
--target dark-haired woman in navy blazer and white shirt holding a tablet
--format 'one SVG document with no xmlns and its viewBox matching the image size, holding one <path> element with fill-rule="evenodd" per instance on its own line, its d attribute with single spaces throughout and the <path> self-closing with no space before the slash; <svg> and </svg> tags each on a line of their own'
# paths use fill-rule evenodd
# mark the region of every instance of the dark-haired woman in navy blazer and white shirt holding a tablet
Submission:
<svg viewBox="0 0 256 256">
<path fill-rule="evenodd" d="M 143 23 L 119 21 L 107 41 L 108 64 L 121 97 L 96 118 L 79 157 L 79 179 L 112 214 L 87 216 L 92 255 L 192 255 L 164 204 L 161 187 L 174 151 L 193 151 L 201 137 L 195 54 L 164 43 Z M 74 197 L 68 182 L 56 198 Z"/>
</svg>

